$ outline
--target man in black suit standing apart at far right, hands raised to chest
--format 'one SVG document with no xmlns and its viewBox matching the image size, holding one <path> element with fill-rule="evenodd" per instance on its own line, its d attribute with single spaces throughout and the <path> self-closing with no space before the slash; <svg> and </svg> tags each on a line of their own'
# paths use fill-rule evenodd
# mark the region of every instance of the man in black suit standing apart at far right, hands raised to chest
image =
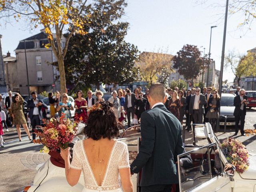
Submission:
<svg viewBox="0 0 256 192">
<path fill-rule="evenodd" d="M 245 90 L 241 89 L 239 91 L 239 95 L 234 97 L 234 116 L 235 116 L 235 134 L 238 134 L 238 126 L 239 126 L 239 121 L 240 121 L 240 133 L 242 136 L 245 136 L 244 134 L 244 119 L 246 116 L 246 105 L 248 104 L 247 102 L 247 96 L 245 95 Z"/>
</svg>

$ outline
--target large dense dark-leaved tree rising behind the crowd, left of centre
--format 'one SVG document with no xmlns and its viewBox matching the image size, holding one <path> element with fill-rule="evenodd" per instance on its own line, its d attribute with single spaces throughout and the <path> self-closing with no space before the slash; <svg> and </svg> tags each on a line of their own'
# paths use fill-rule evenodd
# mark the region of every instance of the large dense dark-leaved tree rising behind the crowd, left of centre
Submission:
<svg viewBox="0 0 256 192">
<path fill-rule="evenodd" d="M 75 89 L 92 84 L 99 89 L 101 83 L 120 85 L 137 80 L 134 62 L 139 52 L 124 40 L 129 23 L 119 21 L 126 6 L 124 0 L 104 0 L 88 8 L 90 18 L 84 18 L 83 28 L 89 33 L 72 35 L 64 60 L 67 82 Z"/>
</svg>

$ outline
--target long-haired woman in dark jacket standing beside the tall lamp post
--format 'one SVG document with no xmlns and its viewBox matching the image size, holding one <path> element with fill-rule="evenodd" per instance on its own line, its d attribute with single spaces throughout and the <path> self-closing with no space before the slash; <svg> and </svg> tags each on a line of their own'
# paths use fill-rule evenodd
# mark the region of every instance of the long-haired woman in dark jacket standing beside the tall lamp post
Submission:
<svg viewBox="0 0 256 192">
<path fill-rule="evenodd" d="M 212 125 L 212 129 L 216 131 L 216 122 L 218 118 L 220 118 L 219 108 L 220 108 L 220 96 L 218 95 L 217 90 L 212 91 L 213 96 L 209 98 L 209 106 L 211 107 L 206 114 L 206 118 L 208 118 L 210 124 Z"/>
</svg>

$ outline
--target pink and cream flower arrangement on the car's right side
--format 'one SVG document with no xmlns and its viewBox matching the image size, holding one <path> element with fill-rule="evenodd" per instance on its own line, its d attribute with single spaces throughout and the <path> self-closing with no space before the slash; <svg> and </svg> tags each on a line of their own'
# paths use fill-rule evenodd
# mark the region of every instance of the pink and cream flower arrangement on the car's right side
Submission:
<svg viewBox="0 0 256 192">
<path fill-rule="evenodd" d="M 223 140 L 221 145 L 227 161 L 236 167 L 238 173 L 248 170 L 250 165 L 249 154 L 242 142 L 238 139 L 227 138 Z"/>
</svg>

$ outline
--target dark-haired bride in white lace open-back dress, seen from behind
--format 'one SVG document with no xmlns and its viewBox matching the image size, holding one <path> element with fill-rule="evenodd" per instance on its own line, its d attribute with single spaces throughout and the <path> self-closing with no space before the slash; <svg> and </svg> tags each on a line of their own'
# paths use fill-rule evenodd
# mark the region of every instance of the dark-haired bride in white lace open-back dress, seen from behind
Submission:
<svg viewBox="0 0 256 192">
<path fill-rule="evenodd" d="M 61 149 L 65 161 L 66 179 L 71 186 L 77 184 L 84 173 L 82 192 L 132 192 L 127 145 L 114 138 L 122 124 L 118 122 L 110 102 L 99 102 L 88 108 L 86 140 L 76 142 L 70 165 L 70 148 Z"/>
</svg>

